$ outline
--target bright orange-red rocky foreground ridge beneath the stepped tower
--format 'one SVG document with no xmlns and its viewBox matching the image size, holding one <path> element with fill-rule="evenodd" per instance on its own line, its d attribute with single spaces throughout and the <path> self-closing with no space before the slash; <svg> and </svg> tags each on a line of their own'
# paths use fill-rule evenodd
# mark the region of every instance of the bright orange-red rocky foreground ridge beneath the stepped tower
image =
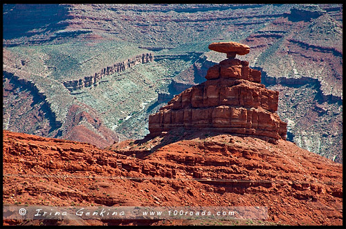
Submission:
<svg viewBox="0 0 346 229">
<path fill-rule="evenodd" d="M 266 206 L 264 221 L 5 220 L 10 225 L 342 225 L 343 166 L 277 140 L 172 130 L 101 150 L 3 130 L 3 203 Z"/>
</svg>

